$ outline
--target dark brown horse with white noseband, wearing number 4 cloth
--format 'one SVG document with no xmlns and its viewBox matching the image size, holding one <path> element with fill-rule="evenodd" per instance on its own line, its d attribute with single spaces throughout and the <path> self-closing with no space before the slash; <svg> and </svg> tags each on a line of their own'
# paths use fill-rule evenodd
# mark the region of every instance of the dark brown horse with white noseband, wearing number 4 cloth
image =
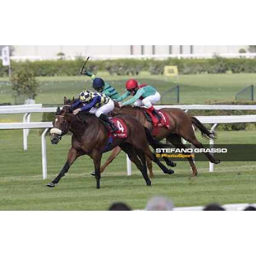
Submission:
<svg viewBox="0 0 256 256">
<path fill-rule="evenodd" d="M 53 122 L 54 128 L 51 130 L 52 144 L 58 144 L 61 137 L 71 131 L 72 145 L 68 153 L 67 162 L 59 175 L 47 186 L 55 187 L 60 181 L 61 177 L 70 169 L 74 161 L 82 155 L 89 155 L 93 159 L 95 168 L 96 188 L 100 188 L 100 164 L 102 154 L 110 151 L 116 146 L 122 148 L 128 154 L 130 160 L 135 163 L 137 168 L 142 173 L 147 186 L 151 186 L 151 181 L 148 178 L 145 155 L 157 163 L 164 173 L 173 174 L 172 170 L 167 169 L 154 153 L 151 152 L 145 129 L 143 125 L 131 116 L 120 116 L 127 126 L 127 138 L 116 138 L 113 143 L 109 145 L 109 132 L 105 125 L 99 121 L 96 116 L 89 113 L 74 116 L 70 113 L 70 105 L 73 102 L 64 98 L 64 107 L 62 111 L 57 109 L 55 121 Z M 82 116 L 82 117 L 81 117 Z"/>
</svg>

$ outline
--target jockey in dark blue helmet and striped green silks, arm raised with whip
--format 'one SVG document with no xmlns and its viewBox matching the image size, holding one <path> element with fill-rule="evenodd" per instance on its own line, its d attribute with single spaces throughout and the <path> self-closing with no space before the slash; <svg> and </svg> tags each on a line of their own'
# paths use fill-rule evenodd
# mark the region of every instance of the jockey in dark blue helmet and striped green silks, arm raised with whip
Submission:
<svg viewBox="0 0 256 256">
<path fill-rule="evenodd" d="M 116 91 L 116 89 L 108 84 L 107 82 L 103 81 L 101 78 L 96 77 L 93 75 L 93 73 L 86 71 L 86 70 L 81 70 L 81 73 L 84 74 L 85 76 L 89 76 L 93 80 L 93 89 L 96 90 L 99 93 L 104 93 L 108 97 L 110 97 L 113 100 L 116 100 L 119 98 L 119 94 Z"/>
</svg>

